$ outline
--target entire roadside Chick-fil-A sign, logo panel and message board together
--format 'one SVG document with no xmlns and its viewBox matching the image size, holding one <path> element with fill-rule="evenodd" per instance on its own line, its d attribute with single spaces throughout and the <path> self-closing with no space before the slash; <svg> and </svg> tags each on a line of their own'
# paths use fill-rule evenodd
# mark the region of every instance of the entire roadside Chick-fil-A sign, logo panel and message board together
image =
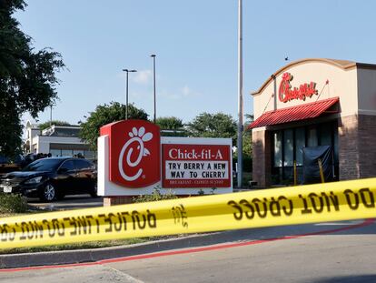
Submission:
<svg viewBox="0 0 376 283">
<path fill-rule="evenodd" d="M 100 134 L 99 196 L 132 197 L 155 188 L 178 196 L 233 191 L 231 138 L 161 137 L 158 126 L 143 120 L 114 122 Z"/>
</svg>

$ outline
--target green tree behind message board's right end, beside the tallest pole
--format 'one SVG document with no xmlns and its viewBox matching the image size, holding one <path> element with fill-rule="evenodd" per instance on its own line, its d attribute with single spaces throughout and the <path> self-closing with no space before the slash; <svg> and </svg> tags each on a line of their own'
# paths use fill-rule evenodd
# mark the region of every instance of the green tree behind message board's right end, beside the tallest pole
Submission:
<svg viewBox="0 0 376 283">
<path fill-rule="evenodd" d="M 187 125 L 190 136 L 232 137 L 236 142 L 236 123 L 231 115 L 202 113 Z"/>
</svg>

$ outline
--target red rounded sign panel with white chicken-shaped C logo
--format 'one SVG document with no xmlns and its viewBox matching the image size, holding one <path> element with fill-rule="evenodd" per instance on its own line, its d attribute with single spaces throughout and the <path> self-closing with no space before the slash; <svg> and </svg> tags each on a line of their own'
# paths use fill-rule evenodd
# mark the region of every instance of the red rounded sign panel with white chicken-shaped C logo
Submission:
<svg viewBox="0 0 376 283">
<path fill-rule="evenodd" d="M 123 187 L 146 187 L 160 180 L 160 129 L 143 120 L 101 127 L 109 136 L 109 178 Z"/>
</svg>

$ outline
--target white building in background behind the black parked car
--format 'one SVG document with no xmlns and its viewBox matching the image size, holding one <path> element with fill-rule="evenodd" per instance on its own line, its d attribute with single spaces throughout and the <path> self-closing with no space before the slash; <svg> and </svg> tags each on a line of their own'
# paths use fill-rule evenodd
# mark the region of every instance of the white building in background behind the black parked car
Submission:
<svg viewBox="0 0 376 283">
<path fill-rule="evenodd" d="M 43 131 L 38 125 L 26 123 L 27 153 L 51 153 L 53 157 L 84 156 L 95 158 L 95 152 L 79 137 L 80 126 L 49 126 Z"/>
</svg>

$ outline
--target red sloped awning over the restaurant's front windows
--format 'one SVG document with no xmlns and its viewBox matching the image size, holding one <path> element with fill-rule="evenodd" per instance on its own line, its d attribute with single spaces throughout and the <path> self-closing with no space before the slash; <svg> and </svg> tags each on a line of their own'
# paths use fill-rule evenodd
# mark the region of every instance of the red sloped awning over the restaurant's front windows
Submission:
<svg viewBox="0 0 376 283">
<path fill-rule="evenodd" d="M 302 106 L 292 106 L 287 108 L 269 111 L 258 117 L 248 129 L 259 126 L 271 126 L 293 121 L 300 121 L 305 119 L 312 119 L 321 116 L 331 106 L 340 101 L 340 97 L 333 97 L 312 103 L 307 103 Z M 335 111 L 338 112 L 338 111 Z M 333 113 L 333 112 L 331 112 Z"/>
</svg>

